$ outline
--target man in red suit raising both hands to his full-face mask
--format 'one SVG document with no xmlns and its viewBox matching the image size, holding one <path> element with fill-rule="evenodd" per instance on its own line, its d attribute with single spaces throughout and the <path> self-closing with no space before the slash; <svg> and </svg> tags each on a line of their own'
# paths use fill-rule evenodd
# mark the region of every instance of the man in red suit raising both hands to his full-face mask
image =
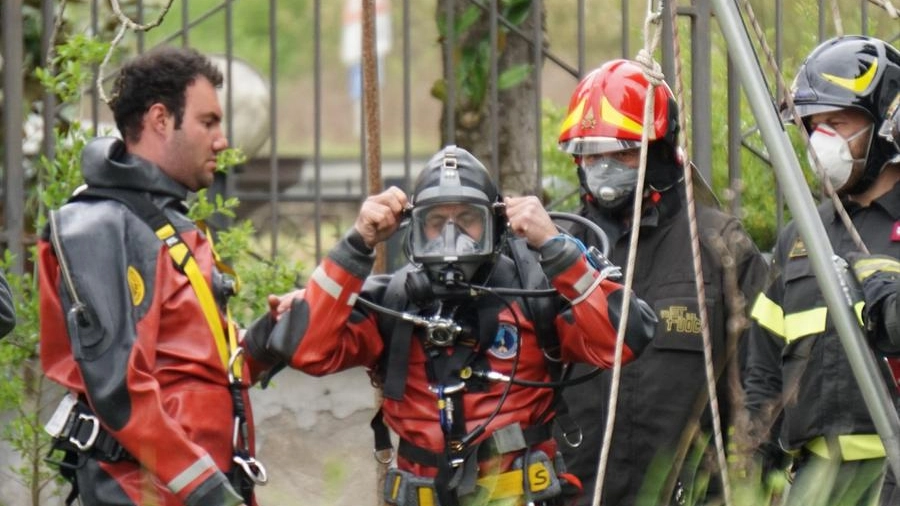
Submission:
<svg viewBox="0 0 900 506">
<path fill-rule="evenodd" d="M 407 215 L 411 263 L 369 276 L 373 248 Z M 523 251 L 501 253 L 516 241 Z M 550 381 L 545 353 L 613 363 L 626 296 L 607 274 L 537 198 L 501 199 L 481 162 L 448 146 L 411 199 L 392 187 L 363 203 L 305 292 L 282 299 L 290 309 L 266 351 L 310 374 L 364 366 L 383 382 L 383 419 L 400 438 L 388 503 L 560 504 L 553 393 L 537 386 Z M 528 309 L 539 305 L 524 302 L 528 277 L 555 289 L 543 290 L 550 311 Z M 639 299 L 629 303 L 626 362 L 656 321 Z M 557 334 L 554 349 L 538 342 L 544 323 Z"/>
</svg>

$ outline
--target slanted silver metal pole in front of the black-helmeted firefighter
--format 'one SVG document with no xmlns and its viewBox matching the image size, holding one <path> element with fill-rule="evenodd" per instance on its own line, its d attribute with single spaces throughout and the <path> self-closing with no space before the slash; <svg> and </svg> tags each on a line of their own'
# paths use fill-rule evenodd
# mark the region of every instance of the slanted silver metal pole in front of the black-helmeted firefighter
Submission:
<svg viewBox="0 0 900 506">
<path fill-rule="evenodd" d="M 827 237 L 825 227 L 819 220 L 816 206 L 803 179 L 800 162 L 793 151 L 787 133 L 772 103 L 762 71 L 756 64 L 750 38 L 744 29 L 740 13 L 733 0 L 713 0 L 716 19 L 728 44 L 728 52 L 735 63 L 747 99 L 756 116 L 760 133 L 772 158 L 772 166 L 784 190 L 788 206 L 797 223 L 800 236 L 808 245 L 809 259 L 825 296 L 828 313 L 834 321 L 841 344 L 853 375 L 862 390 L 863 399 L 887 453 L 888 461 L 895 476 L 900 476 L 900 418 L 888 394 L 884 381 L 878 375 L 878 366 L 872 351 L 865 344 L 856 315 L 844 297 L 832 257 L 834 250 L 822 237 Z"/>
</svg>

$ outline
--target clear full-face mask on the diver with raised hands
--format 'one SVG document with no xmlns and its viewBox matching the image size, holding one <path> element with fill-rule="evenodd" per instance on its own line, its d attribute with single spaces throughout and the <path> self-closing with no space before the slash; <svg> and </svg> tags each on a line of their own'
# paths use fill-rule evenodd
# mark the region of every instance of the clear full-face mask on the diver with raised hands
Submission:
<svg viewBox="0 0 900 506">
<path fill-rule="evenodd" d="M 412 258 L 432 281 L 448 285 L 471 281 L 493 255 L 492 213 L 486 205 L 441 202 L 416 206 L 411 218 Z"/>
</svg>

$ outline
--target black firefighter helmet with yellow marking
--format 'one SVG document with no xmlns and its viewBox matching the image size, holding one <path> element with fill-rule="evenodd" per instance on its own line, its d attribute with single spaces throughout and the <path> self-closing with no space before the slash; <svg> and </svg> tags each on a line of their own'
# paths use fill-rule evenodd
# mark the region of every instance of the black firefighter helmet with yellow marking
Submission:
<svg viewBox="0 0 900 506">
<path fill-rule="evenodd" d="M 872 37 L 836 37 L 816 47 L 800 66 L 791 97 L 797 113 L 806 119 L 817 113 L 852 108 L 864 112 L 879 132 L 892 106 L 900 101 L 900 51 Z M 793 121 L 793 112 L 782 104 L 782 117 Z M 856 193 L 868 187 L 888 160 L 897 155 L 894 144 L 872 135 L 865 173 Z"/>
</svg>

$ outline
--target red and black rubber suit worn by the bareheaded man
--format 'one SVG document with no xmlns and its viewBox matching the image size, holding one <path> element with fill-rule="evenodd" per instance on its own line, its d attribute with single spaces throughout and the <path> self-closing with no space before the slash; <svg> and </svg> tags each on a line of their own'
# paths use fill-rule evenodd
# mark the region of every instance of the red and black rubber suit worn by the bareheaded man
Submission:
<svg viewBox="0 0 900 506">
<path fill-rule="evenodd" d="M 211 243 L 185 215 L 186 188 L 114 139 L 88 144 L 82 171 L 89 186 L 145 192 L 217 291 Z M 77 470 L 82 504 L 241 504 L 226 478 L 234 416 L 228 377 L 188 278 L 154 231 L 119 202 L 71 202 L 56 222 L 62 251 L 48 237 L 38 246 L 41 364 L 132 457 L 88 458 Z M 60 256 L 77 295 L 63 279 Z M 72 317 L 76 297 L 86 323 Z M 221 307 L 219 317 L 225 327 Z M 244 386 L 252 368 L 248 360 Z M 252 434 L 246 388 L 243 395 Z"/>
</svg>

